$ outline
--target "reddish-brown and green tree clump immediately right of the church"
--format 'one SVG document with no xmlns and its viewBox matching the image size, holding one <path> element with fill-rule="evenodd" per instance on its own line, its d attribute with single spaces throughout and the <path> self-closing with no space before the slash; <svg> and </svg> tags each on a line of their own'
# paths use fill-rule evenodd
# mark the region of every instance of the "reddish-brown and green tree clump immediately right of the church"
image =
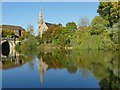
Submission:
<svg viewBox="0 0 120 90">
<path fill-rule="evenodd" d="M 66 27 L 51 25 L 43 34 L 43 37 L 37 37 L 40 44 L 52 44 L 52 46 L 65 47 L 71 46 L 73 34 L 77 29 L 74 22 L 69 22 Z"/>
</svg>

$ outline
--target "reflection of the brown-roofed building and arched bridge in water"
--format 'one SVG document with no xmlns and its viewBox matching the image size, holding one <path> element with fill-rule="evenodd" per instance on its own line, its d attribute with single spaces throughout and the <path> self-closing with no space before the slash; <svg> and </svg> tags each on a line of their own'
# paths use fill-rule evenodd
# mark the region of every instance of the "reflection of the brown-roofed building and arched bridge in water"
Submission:
<svg viewBox="0 0 120 90">
<path fill-rule="evenodd" d="M 0 53 L 2 69 L 11 69 L 15 67 L 20 67 L 32 59 L 31 57 L 28 57 L 24 54 L 20 54 L 15 49 L 11 49 L 9 53 L 6 53 L 6 51 L 7 49 L 2 48 L 2 53 Z"/>
</svg>

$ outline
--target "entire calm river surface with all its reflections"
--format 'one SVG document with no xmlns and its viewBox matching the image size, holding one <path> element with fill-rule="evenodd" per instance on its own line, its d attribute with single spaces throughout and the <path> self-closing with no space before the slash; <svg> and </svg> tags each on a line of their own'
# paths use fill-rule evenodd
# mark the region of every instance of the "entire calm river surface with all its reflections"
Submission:
<svg viewBox="0 0 120 90">
<path fill-rule="evenodd" d="M 118 52 L 54 50 L 2 57 L 3 88 L 120 88 Z"/>
</svg>

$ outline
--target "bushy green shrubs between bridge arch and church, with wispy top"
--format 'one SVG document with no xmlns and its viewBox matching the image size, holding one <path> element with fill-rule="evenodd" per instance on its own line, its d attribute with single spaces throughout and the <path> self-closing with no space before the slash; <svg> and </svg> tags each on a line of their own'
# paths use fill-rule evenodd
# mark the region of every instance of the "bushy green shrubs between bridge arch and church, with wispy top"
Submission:
<svg viewBox="0 0 120 90">
<path fill-rule="evenodd" d="M 21 43 L 16 45 L 16 50 L 19 52 L 28 53 L 28 51 L 34 52 L 37 49 L 38 41 L 35 36 L 32 35 L 34 28 L 32 25 L 28 26 L 27 32 L 24 32 L 23 35 L 19 38 Z"/>
</svg>

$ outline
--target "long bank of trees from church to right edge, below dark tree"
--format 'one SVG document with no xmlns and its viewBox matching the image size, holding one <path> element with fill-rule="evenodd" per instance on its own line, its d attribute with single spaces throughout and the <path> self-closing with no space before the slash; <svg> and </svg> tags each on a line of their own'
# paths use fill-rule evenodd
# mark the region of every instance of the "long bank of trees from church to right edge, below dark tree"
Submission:
<svg viewBox="0 0 120 90">
<path fill-rule="evenodd" d="M 83 19 L 82 19 L 83 20 Z M 53 25 L 37 38 L 40 45 L 52 47 L 73 47 L 79 49 L 120 50 L 119 48 L 119 22 L 113 27 L 108 27 L 109 22 L 96 16 L 90 25 L 81 25 L 77 28 L 73 22 L 68 22 L 66 27 Z"/>
</svg>

